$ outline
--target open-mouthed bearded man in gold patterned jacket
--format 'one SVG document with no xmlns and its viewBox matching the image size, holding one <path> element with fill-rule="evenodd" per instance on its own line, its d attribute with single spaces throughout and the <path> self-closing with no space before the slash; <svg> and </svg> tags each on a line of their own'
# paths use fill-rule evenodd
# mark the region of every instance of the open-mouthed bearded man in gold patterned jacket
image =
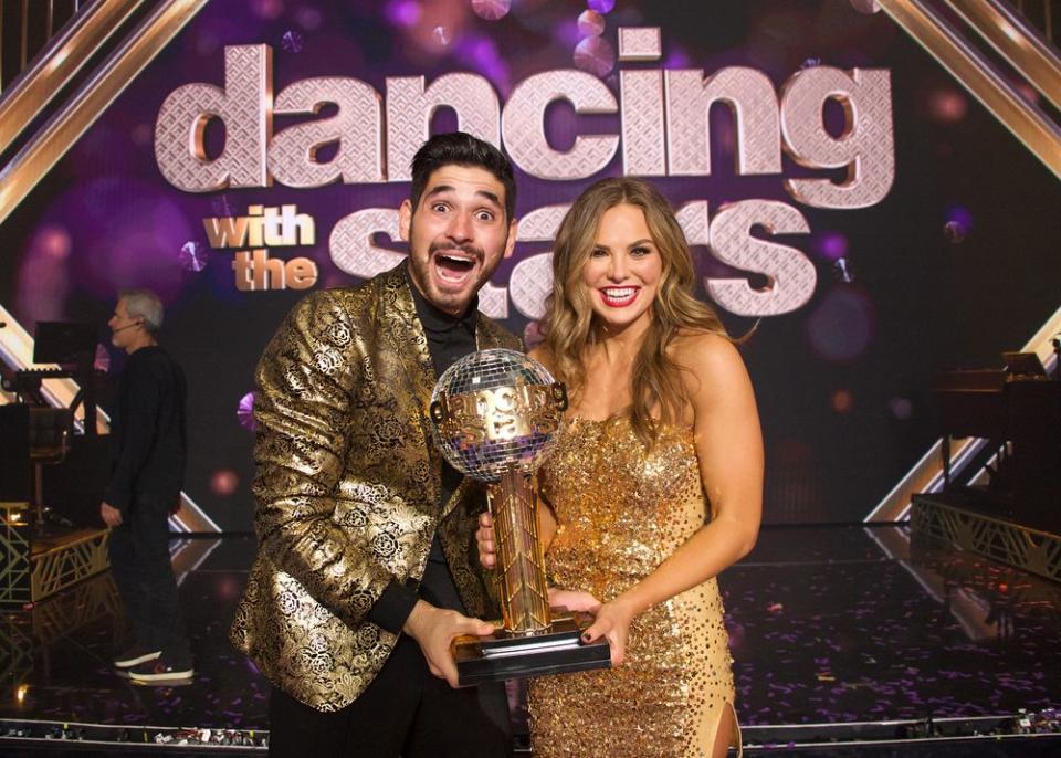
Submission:
<svg viewBox="0 0 1061 758">
<path fill-rule="evenodd" d="M 426 424 L 449 365 L 519 348 L 476 295 L 515 243 L 512 166 L 437 135 L 410 196 L 408 259 L 311 294 L 258 366 L 259 552 L 231 639 L 273 684 L 273 755 L 511 751 L 503 688 L 455 688 L 450 654 L 493 630 L 474 547 L 485 501 Z"/>
</svg>

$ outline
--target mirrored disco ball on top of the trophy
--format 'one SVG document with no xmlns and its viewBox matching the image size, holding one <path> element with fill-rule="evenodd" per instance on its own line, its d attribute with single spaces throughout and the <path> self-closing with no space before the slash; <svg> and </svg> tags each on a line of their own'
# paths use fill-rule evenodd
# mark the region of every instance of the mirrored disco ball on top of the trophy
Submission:
<svg viewBox="0 0 1061 758">
<path fill-rule="evenodd" d="M 567 407 L 564 386 L 516 350 L 472 352 L 448 368 L 431 394 L 442 454 L 463 474 L 496 482 L 532 473 L 551 451 Z"/>
</svg>

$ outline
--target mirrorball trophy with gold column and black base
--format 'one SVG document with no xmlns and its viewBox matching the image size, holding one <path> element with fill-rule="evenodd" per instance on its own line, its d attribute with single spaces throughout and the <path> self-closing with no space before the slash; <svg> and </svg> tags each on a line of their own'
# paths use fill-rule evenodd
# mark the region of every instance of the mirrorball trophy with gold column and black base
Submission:
<svg viewBox="0 0 1061 758">
<path fill-rule="evenodd" d="M 481 350 L 456 361 L 431 394 L 435 442 L 450 464 L 486 483 L 497 545 L 503 627 L 490 638 L 463 636 L 453 654 L 461 684 L 603 668 L 603 638 L 584 644 L 591 622 L 553 609 L 530 483 L 560 431 L 564 385 L 515 350 Z"/>
</svg>

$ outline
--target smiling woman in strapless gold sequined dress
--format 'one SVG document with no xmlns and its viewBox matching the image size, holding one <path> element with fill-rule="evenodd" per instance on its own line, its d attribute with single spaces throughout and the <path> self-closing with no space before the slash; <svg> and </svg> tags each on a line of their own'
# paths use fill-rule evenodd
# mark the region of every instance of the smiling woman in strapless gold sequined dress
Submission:
<svg viewBox="0 0 1061 758">
<path fill-rule="evenodd" d="M 739 748 L 715 577 L 759 528 L 763 443 L 752 385 L 693 295 L 668 201 L 606 179 L 557 234 L 543 361 L 571 398 L 539 475 L 554 606 L 586 610 L 612 668 L 530 683 L 536 758 L 724 756 Z M 494 562 L 489 516 L 480 554 Z"/>
</svg>

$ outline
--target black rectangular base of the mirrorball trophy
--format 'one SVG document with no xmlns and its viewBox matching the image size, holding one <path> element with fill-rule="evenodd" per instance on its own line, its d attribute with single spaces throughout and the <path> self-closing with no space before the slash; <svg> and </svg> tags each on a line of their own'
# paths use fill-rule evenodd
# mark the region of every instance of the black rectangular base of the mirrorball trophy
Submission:
<svg viewBox="0 0 1061 758">
<path fill-rule="evenodd" d="M 503 629 L 485 638 L 460 636 L 453 641 L 453 656 L 461 686 L 607 668 L 611 665 L 608 640 L 581 641 L 591 623 L 591 617 L 574 613 L 558 615 L 548 630 L 526 636 L 506 634 Z"/>
</svg>

